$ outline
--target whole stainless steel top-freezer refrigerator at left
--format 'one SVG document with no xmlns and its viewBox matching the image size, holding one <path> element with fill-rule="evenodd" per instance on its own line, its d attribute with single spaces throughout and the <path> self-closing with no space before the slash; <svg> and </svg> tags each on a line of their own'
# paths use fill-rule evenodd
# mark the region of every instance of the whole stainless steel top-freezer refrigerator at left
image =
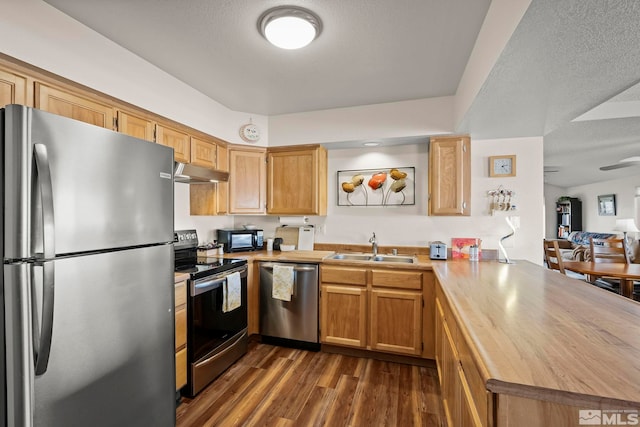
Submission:
<svg viewBox="0 0 640 427">
<path fill-rule="evenodd" d="M 0 110 L 0 413 L 14 426 L 173 426 L 173 151 Z"/>
</svg>

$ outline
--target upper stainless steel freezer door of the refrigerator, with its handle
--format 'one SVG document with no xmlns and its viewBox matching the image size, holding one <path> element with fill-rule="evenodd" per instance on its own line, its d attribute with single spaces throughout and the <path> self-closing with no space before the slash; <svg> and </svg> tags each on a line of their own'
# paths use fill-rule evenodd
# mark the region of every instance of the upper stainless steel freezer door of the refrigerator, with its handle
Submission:
<svg viewBox="0 0 640 427">
<path fill-rule="evenodd" d="M 5 259 L 173 240 L 173 150 L 19 105 L 4 123 Z"/>
</svg>

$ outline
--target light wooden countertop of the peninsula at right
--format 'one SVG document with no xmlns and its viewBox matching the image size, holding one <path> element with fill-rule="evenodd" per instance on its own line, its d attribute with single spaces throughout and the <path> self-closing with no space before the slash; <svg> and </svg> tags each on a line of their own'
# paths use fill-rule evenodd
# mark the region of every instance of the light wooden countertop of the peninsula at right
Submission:
<svg viewBox="0 0 640 427">
<path fill-rule="evenodd" d="M 487 390 L 640 409 L 639 303 L 526 261 L 433 270 Z"/>
</svg>

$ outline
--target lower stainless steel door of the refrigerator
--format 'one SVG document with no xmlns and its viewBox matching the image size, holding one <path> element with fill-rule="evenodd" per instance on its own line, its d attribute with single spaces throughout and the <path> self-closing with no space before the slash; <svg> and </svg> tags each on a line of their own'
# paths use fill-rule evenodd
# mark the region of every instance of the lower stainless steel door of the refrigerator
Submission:
<svg viewBox="0 0 640 427">
<path fill-rule="evenodd" d="M 16 345 L 33 352 L 23 395 L 31 404 L 13 402 L 16 413 L 33 408 L 35 426 L 173 426 L 175 424 L 175 339 L 173 248 L 148 248 L 60 258 L 55 261 L 52 336 L 43 373 L 33 374 L 38 332 L 46 329 L 42 267 L 30 266 L 31 339 L 7 331 L 7 353 Z M 5 285 L 12 283 L 5 265 Z M 24 285 L 23 285 L 24 287 Z M 20 301 L 7 300 L 12 312 Z M 20 317 L 20 316 L 18 316 Z M 35 335 L 33 335 L 35 333 Z M 37 368 L 35 369 L 37 371 Z M 17 371 L 17 372 L 16 372 Z M 7 369 L 8 382 L 20 382 L 20 370 Z M 9 378 L 17 376 L 17 378 Z M 31 381 L 31 385 L 29 385 Z M 11 425 L 11 424 L 9 424 Z M 28 424 L 26 424 L 28 425 Z"/>
</svg>

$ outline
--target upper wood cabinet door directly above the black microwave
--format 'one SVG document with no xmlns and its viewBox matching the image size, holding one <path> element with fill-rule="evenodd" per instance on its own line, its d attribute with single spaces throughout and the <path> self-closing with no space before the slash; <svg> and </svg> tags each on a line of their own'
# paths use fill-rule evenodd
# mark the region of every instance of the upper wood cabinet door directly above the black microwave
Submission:
<svg viewBox="0 0 640 427">
<path fill-rule="evenodd" d="M 265 213 L 266 156 L 261 150 L 229 150 L 229 213 Z"/>
</svg>

